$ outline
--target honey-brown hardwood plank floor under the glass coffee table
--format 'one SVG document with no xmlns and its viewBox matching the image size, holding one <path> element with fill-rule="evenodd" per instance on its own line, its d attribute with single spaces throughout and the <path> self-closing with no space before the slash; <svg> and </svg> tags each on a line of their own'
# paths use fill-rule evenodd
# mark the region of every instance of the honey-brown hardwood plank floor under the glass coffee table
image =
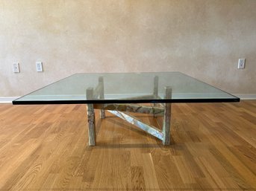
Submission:
<svg viewBox="0 0 256 191">
<path fill-rule="evenodd" d="M 0 190 L 256 190 L 256 101 L 173 104 L 171 146 L 106 114 L 1 104 Z"/>
</svg>

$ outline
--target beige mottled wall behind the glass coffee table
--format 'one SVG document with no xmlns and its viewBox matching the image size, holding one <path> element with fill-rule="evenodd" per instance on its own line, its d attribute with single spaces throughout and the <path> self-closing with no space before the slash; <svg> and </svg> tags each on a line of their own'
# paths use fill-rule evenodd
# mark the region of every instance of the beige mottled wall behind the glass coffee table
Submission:
<svg viewBox="0 0 256 191">
<path fill-rule="evenodd" d="M 181 71 L 255 94 L 255 10 L 255 0 L 0 0 L 0 97 L 121 71 Z"/>
</svg>

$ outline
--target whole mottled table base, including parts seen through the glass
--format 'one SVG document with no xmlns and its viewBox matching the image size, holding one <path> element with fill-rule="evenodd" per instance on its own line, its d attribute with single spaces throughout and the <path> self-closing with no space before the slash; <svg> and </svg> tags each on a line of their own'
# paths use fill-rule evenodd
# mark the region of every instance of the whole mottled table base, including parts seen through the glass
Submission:
<svg viewBox="0 0 256 191">
<path fill-rule="evenodd" d="M 87 88 L 87 99 L 92 99 L 99 97 L 99 99 L 104 99 L 104 83 L 103 77 L 99 77 L 99 85 L 93 88 Z M 159 98 L 158 97 L 158 77 L 154 77 L 154 94 L 146 96 Z M 137 100 L 145 99 L 144 97 L 136 97 Z M 172 97 L 172 88 L 165 88 L 165 98 L 169 99 Z M 134 97 L 132 97 L 134 99 Z M 131 99 L 131 100 L 132 100 Z M 96 145 L 96 130 L 95 130 L 95 113 L 94 109 L 101 109 L 100 117 L 105 117 L 105 110 L 109 111 L 112 114 L 115 114 L 117 117 L 120 117 L 123 120 L 126 120 L 128 123 L 137 126 L 143 131 L 148 132 L 150 135 L 157 137 L 162 140 L 163 145 L 169 145 L 170 143 L 170 120 L 171 120 L 171 103 L 162 103 L 161 107 L 156 107 L 154 104 L 151 106 L 140 106 L 134 104 L 87 104 L 87 116 L 88 116 L 88 129 L 89 129 L 89 145 Z M 151 126 L 149 124 L 143 123 L 137 117 L 128 114 L 128 112 L 133 113 L 143 113 L 143 114 L 153 114 L 154 117 L 163 116 L 163 128 L 157 129 L 157 127 Z"/>
</svg>

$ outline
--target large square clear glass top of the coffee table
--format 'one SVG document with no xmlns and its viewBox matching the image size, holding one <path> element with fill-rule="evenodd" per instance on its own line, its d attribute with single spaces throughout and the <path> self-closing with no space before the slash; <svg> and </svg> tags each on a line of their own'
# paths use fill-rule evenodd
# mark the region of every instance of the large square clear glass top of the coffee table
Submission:
<svg viewBox="0 0 256 191">
<path fill-rule="evenodd" d="M 103 80 L 99 87 L 99 78 Z M 101 88 L 104 87 L 104 88 Z M 172 89 L 165 97 L 165 88 Z M 93 97 L 87 89 L 93 88 Z M 104 97 L 97 91 L 104 89 Z M 13 101 L 13 104 L 213 103 L 240 98 L 181 72 L 73 74 Z"/>
</svg>

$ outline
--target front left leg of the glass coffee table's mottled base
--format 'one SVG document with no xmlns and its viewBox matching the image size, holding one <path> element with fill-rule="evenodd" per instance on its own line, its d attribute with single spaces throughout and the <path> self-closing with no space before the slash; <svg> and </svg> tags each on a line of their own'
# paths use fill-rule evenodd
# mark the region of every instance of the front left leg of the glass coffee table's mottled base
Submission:
<svg viewBox="0 0 256 191">
<path fill-rule="evenodd" d="M 87 88 L 87 99 L 93 97 L 93 88 Z M 87 104 L 89 146 L 96 144 L 95 114 L 93 104 Z"/>
</svg>

